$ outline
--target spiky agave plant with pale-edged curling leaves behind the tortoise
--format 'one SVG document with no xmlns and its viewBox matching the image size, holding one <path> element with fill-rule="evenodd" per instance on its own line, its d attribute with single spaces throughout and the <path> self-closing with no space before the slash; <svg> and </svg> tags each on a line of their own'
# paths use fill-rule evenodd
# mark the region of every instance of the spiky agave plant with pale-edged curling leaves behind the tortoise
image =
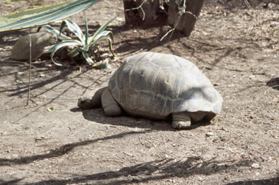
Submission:
<svg viewBox="0 0 279 185">
<path fill-rule="evenodd" d="M 75 56 L 82 54 L 82 56 L 85 58 L 85 60 L 92 67 L 102 67 L 103 65 L 108 65 L 107 63 L 99 64 L 99 63 L 96 63 L 96 61 L 94 62 L 92 60 L 92 58 L 89 56 L 89 51 L 91 51 L 91 49 L 94 49 L 96 47 L 97 42 L 99 42 L 102 39 L 107 39 L 110 44 L 110 51 L 112 52 L 113 56 L 116 56 L 116 54 L 114 54 L 114 51 L 112 50 L 112 43 L 113 43 L 112 31 L 105 30 L 107 28 L 108 24 L 110 24 L 110 22 L 112 22 L 115 18 L 116 17 L 114 17 L 113 19 L 110 19 L 110 21 L 108 21 L 105 24 L 103 24 L 102 26 L 100 26 L 100 28 L 96 31 L 96 33 L 93 34 L 93 36 L 89 36 L 88 24 L 87 24 L 85 14 L 84 14 L 85 35 L 84 35 L 84 33 L 82 33 L 82 30 L 80 29 L 80 27 L 77 24 L 75 24 L 75 22 L 71 21 L 68 18 L 63 20 L 63 22 L 61 23 L 60 31 L 57 31 L 56 29 L 52 28 L 52 26 L 50 26 L 50 25 L 44 25 L 43 27 L 45 29 L 47 29 L 47 31 L 54 33 L 57 36 L 57 38 L 59 40 L 61 40 L 61 42 L 57 43 L 56 45 L 45 47 L 44 53 L 51 52 L 50 58 L 52 59 L 52 62 L 56 65 L 61 66 L 60 63 L 56 63 L 54 61 L 54 58 L 53 58 L 54 54 L 56 53 L 56 51 L 58 51 L 62 47 L 74 46 L 74 49 L 72 49 L 68 54 L 68 56 L 70 56 L 71 58 L 74 58 Z M 67 35 L 64 35 L 63 33 L 61 33 L 61 31 L 63 30 L 63 28 L 65 26 L 68 26 L 68 29 L 77 36 L 78 40 L 70 38 Z M 105 67 L 105 66 L 103 66 L 103 67 Z"/>
</svg>

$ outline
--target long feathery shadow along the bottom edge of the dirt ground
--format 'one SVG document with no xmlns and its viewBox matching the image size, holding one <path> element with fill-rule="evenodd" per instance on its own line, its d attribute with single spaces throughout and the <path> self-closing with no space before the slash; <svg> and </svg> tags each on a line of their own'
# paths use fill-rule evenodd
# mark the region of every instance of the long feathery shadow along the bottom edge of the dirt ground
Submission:
<svg viewBox="0 0 279 185">
<path fill-rule="evenodd" d="M 92 175 L 77 175 L 71 179 L 50 179 L 33 182 L 36 184 L 78 184 L 98 181 L 92 184 L 130 184 L 146 183 L 153 180 L 163 180 L 169 177 L 187 178 L 192 175 L 211 175 L 227 170 L 236 170 L 241 166 L 250 166 L 251 161 L 217 161 L 216 158 L 203 161 L 201 157 L 188 157 L 179 161 L 175 159 L 160 159 L 135 166 L 121 168 L 116 171 L 100 172 Z"/>
</svg>

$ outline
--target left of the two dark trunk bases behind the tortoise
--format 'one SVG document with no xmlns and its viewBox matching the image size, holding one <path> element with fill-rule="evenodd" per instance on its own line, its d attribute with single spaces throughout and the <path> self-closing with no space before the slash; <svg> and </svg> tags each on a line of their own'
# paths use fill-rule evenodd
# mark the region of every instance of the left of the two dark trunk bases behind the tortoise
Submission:
<svg viewBox="0 0 279 185">
<path fill-rule="evenodd" d="M 149 22 L 158 13 L 160 0 L 123 0 L 126 24 L 144 20 Z M 140 6 L 142 5 L 142 8 Z M 130 10 L 137 8 L 135 10 Z"/>
</svg>

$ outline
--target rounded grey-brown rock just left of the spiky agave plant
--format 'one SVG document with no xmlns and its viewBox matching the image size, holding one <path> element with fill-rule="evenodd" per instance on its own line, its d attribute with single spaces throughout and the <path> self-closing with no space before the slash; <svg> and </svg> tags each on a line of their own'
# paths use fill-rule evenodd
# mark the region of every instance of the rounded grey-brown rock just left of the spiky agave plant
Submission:
<svg viewBox="0 0 279 185">
<path fill-rule="evenodd" d="M 55 45 L 56 35 L 50 32 L 31 33 L 32 61 L 42 56 L 44 47 Z M 10 58 L 15 61 L 28 61 L 30 56 L 29 35 L 25 35 L 15 43 Z"/>
</svg>

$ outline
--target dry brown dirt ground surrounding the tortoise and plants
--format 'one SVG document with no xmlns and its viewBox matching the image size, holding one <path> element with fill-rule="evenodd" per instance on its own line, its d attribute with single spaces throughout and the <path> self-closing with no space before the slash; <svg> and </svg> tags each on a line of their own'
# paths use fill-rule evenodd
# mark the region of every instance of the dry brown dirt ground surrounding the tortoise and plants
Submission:
<svg viewBox="0 0 279 185">
<path fill-rule="evenodd" d="M 0 1 L 0 10 L 31 3 Z M 0 33 L 0 184 L 279 184 L 279 4 L 250 3 L 206 1 L 190 38 L 175 33 L 160 42 L 169 26 L 125 26 L 121 1 L 101 1 L 86 15 L 91 33 L 119 15 L 112 69 L 37 61 L 29 106 L 28 65 L 7 58 L 27 30 Z M 73 20 L 84 25 L 82 13 Z M 222 112 L 211 124 L 176 131 L 77 108 L 78 97 L 106 86 L 122 59 L 139 51 L 193 61 L 223 95 Z"/>
</svg>

